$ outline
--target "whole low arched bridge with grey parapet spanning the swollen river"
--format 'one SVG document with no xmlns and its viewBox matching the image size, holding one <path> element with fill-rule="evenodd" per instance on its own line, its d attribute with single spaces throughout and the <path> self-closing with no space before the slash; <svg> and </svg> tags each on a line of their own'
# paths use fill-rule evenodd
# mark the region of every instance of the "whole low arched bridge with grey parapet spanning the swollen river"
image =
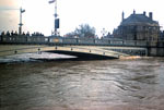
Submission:
<svg viewBox="0 0 164 110">
<path fill-rule="evenodd" d="M 81 59 L 118 59 L 128 56 L 149 56 L 149 48 L 156 48 L 156 44 L 163 50 L 164 42 L 153 41 L 1 36 L 0 57 L 46 51 L 75 56 Z"/>
</svg>

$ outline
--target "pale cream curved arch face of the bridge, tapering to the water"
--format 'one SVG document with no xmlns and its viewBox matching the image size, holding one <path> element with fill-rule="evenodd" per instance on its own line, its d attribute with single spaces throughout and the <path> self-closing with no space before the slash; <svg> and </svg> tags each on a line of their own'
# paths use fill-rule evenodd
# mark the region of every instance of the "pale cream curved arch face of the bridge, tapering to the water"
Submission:
<svg viewBox="0 0 164 110">
<path fill-rule="evenodd" d="M 81 52 L 89 54 L 97 54 L 105 57 L 114 57 L 119 58 L 120 56 L 128 56 L 125 53 L 112 51 L 105 49 L 107 47 L 92 47 L 92 46 L 24 46 L 24 45 L 4 45 L 0 46 L 0 57 L 20 54 L 20 53 L 28 53 L 28 52 L 38 52 L 38 51 L 72 51 L 72 52 Z"/>
</svg>

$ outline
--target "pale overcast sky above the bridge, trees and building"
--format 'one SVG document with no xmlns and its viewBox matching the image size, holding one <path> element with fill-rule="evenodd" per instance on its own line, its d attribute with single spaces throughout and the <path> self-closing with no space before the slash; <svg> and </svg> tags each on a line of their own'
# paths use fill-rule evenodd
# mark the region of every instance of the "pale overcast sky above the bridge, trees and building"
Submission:
<svg viewBox="0 0 164 110">
<path fill-rule="evenodd" d="M 23 13 L 23 30 L 42 32 L 50 35 L 54 28 L 54 4 L 49 0 L 0 0 L 0 32 L 17 30 L 19 8 Z M 101 30 L 113 32 L 121 22 L 121 13 L 128 17 L 136 13 L 153 12 L 153 20 L 164 26 L 163 0 L 57 0 L 60 34 L 74 30 L 80 24 L 90 24 Z"/>
</svg>

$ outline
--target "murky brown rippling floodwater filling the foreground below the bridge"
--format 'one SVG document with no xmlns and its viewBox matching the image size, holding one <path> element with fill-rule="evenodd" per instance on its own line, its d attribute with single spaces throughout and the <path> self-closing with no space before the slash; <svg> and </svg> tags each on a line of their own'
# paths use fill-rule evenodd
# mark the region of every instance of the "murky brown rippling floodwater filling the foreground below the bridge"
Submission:
<svg viewBox="0 0 164 110">
<path fill-rule="evenodd" d="M 164 58 L 3 63 L 0 110 L 164 110 Z"/>
</svg>

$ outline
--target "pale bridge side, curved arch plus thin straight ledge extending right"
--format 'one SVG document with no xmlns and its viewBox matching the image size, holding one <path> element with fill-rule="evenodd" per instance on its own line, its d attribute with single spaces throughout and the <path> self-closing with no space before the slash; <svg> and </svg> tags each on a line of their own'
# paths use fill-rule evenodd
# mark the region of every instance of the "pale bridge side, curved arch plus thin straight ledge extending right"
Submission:
<svg viewBox="0 0 164 110">
<path fill-rule="evenodd" d="M 121 51 L 115 51 L 121 50 Z M 73 52 L 85 53 L 99 57 L 108 58 L 119 58 L 130 56 L 124 53 L 124 50 L 145 50 L 144 48 L 134 47 L 105 47 L 105 46 L 44 46 L 44 45 L 0 45 L 0 57 L 30 53 L 30 52 L 40 52 L 40 51 L 51 51 L 60 53 L 72 54 Z M 65 52 L 63 52 L 65 51 Z"/>
</svg>

